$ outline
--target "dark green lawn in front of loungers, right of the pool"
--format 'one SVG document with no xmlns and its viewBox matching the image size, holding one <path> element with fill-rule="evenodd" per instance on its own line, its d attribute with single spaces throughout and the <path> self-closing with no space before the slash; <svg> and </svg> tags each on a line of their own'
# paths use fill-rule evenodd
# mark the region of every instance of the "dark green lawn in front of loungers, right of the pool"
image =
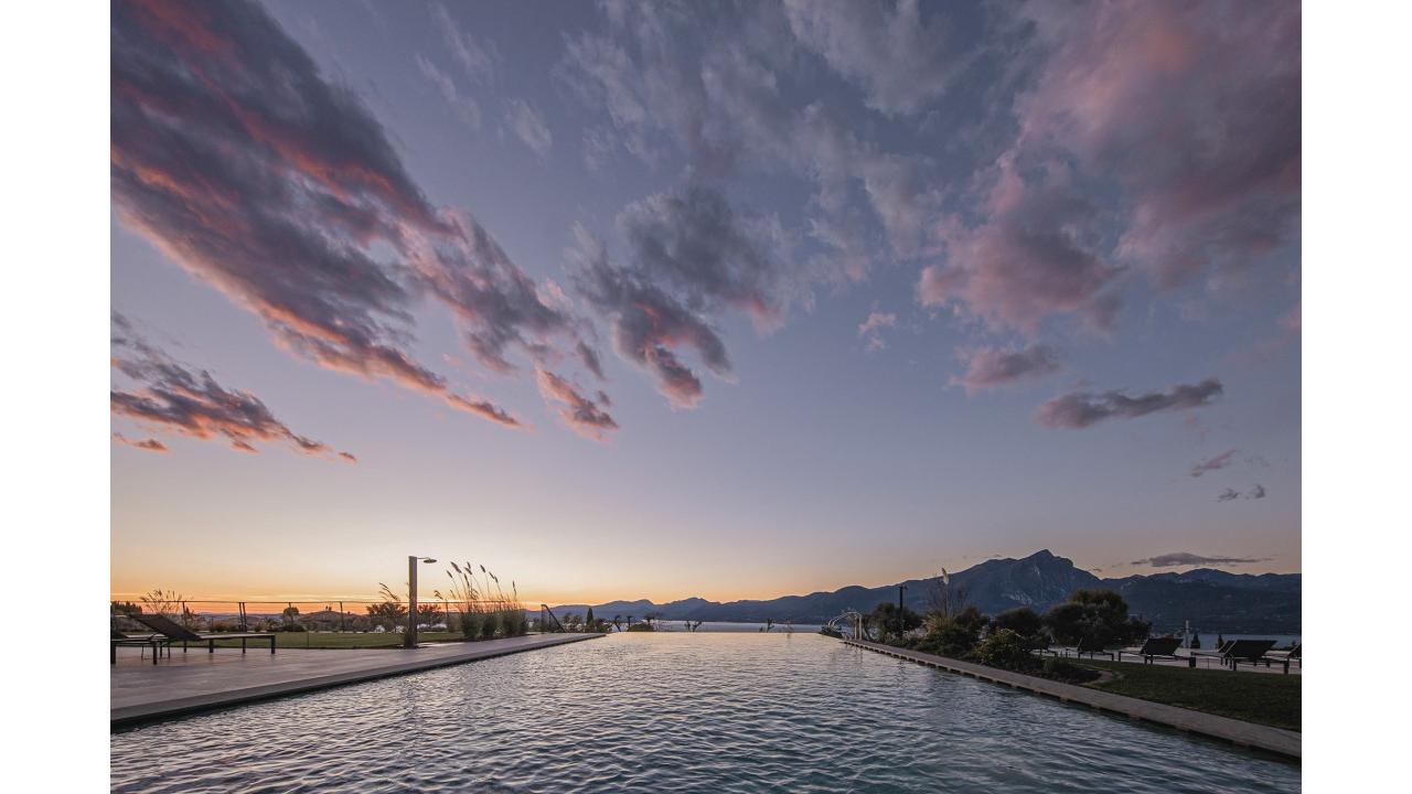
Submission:
<svg viewBox="0 0 1412 794">
<path fill-rule="evenodd" d="M 1094 689 L 1299 730 L 1303 675 L 1115 661 L 1084 661 L 1083 665 L 1115 674 L 1108 681 L 1089 684 Z"/>
</svg>

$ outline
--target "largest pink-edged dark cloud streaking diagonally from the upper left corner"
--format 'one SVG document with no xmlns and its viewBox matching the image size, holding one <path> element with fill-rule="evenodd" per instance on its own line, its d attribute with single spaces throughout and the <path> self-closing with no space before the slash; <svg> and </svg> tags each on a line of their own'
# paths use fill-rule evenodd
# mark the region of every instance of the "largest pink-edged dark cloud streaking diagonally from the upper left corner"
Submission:
<svg viewBox="0 0 1412 794">
<path fill-rule="evenodd" d="M 569 302 L 469 213 L 428 202 L 363 102 L 260 6 L 117 3 L 112 16 L 123 223 L 281 348 L 520 427 L 418 360 L 412 305 L 438 298 L 476 359 L 511 373 L 511 350 L 538 366 L 583 343 Z"/>
</svg>

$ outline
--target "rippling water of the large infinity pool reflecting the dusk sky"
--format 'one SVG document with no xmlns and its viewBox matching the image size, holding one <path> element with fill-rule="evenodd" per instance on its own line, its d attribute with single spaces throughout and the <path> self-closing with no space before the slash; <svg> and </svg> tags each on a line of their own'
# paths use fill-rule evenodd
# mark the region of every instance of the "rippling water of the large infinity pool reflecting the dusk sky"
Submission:
<svg viewBox="0 0 1412 794">
<path fill-rule="evenodd" d="M 337 653 L 337 651 L 329 651 Z M 613 634 L 112 737 L 116 791 L 1299 791 L 1299 766 L 816 634 Z"/>
</svg>

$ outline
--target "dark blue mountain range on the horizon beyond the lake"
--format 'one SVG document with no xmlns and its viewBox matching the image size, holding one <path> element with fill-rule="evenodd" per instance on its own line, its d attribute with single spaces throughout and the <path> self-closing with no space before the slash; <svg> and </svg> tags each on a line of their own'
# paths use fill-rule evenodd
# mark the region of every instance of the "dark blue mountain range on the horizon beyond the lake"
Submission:
<svg viewBox="0 0 1412 794">
<path fill-rule="evenodd" d="M 916 610 L 928 609 L 938 591 L 936 578 L 899 583 L 907 586 L 907 605 Z M 1017 606 L 1043 612 L 1067 599 L 1076 589 L 1107 588 L 1120 592 L 1132 613 L 1151 620 L 1158 630 L 1179 629 L 1183 620 L 1190 620 L 1192 627 L 1200 632 L 1226 633 L 1292 634 L 1300 626 L 1299 574 L 1257 576 L 1199 568 L 1183 574 L 1100 579 L 1075 567 L 1072 559 L 1043 550 L 1022 559 L 987 559 L 952 574 L 952 586 L 964 591 L 966 603 L 987 615 Z M 770 619 L 823 623 L 849 609 L 867 612 L 878 602 L 895 602 L 897 588 L 898 585 L 850 585 L 832 592 L 726 603 L 702 598 L 668 603 L 647 599 L 613 600 L 593 605 L 593 615 L 607 619 L 614 615 L 641 619 L 655 613 L 666 620 L 762 623 Z M 562 617 L 569 612 L 582 615 L 587 608 L 585 603 L 572 603 L 556 606 L 554 612 Z"/>
</svg>

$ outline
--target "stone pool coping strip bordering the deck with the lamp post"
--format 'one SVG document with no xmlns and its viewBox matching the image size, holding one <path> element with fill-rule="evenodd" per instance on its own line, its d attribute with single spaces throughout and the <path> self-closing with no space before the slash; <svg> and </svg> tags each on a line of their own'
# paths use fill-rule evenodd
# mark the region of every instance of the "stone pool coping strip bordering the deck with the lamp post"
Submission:
<svg viewBox="0 0 1412 794">
<path fill-rule="evenodd" d="M 109 709 L 109 729 L 128 728 L 133 725 L 157 722 L 176 716 L 186 716 L 203 711 L 222 709 L 256 701 L 268 701 L 288 695 L 312 692 L 316 689 L 328 689 L 330 687 L 361 684 L 364 681 L 374 681 L 377 678 L 408 675 L 412 672 L 422 672 L 439 667 L 450 667 L 453 664 L 466 664 L 472 661 L 481 661 L 487 658 L 548 648 L 568 643 L 593 640 L 603 636 L 604 634 L 599 633 L 562 634 L 562 636 L 556 634 L 556 636 L 542 637 L 539 641 L 515 644 L 515 646 L 498 646 L 498 647 L 484 647 L 484 646 L 474 647 L 479 643 L 467 643 L 469 647 L 466 648 L 466 651 L 457 654 L 436 656 L 415 661 L 400 661 L 394 664 L 376 664 L 360 670 L 347 670 L 328 675 L 313 675 L 291 681 L 260 684 L 256 687 L 241 687 L 239 689 L 226 689 L 220 692 L 206 692 L 201 695 L 188 695 L 181 698 L 168 698 L 162 701 L 150 701 L 144 704 L 117 706 Z M 491 640 L 487 644 L 494 644 L 494 643 L 496 641 Z M 339 653 L 339 651 L 332 650 L 328 653 Z"/>
</svg>

